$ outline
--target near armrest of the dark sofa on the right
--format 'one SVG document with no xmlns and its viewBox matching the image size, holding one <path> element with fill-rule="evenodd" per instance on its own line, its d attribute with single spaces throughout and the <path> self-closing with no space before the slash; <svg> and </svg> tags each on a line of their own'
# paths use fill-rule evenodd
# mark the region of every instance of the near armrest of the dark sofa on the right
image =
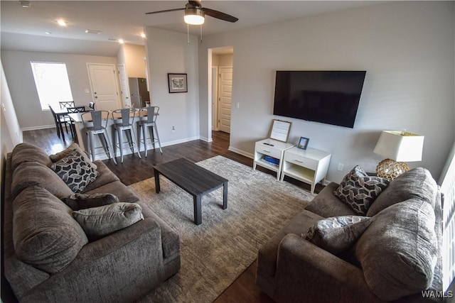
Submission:
<svg viewBox="0 0 455 303">
<path fill-rule="evenodd" d="M 293 233 L 279 244 L 275 281 L 279 302 L 382 302 L 360 268 Z"/>
</svg>

